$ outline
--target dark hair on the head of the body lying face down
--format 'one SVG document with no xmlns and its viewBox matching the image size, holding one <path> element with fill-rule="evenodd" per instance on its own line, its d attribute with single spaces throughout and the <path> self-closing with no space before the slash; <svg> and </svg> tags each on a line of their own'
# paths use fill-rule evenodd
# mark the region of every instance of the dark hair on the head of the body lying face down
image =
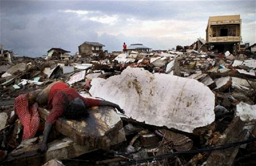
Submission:
<svg viewBox="0 0 256 166">
<path fill-rule="evenodd" d="M 88 116 L 84 102 L 81 98 L 75 98 L 68 104 L 67 109 L 63 112 L 63 117 L 67 119 L 79 119 Z"/>
</svg>

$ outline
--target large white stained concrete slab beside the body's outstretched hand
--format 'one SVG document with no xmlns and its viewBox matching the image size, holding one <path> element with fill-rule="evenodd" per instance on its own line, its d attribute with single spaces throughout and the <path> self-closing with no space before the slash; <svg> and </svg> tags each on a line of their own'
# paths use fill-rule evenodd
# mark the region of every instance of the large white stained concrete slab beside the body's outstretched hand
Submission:
<svg viewBox="0 0 256 166">
<path fill-rule="evenodd" d="M 193 79 L 128 67 L 121 75 L 93 79 L 90 93 L 147 124 L 193 132 L 214 121 L 214 94 Z"/>
</svg>

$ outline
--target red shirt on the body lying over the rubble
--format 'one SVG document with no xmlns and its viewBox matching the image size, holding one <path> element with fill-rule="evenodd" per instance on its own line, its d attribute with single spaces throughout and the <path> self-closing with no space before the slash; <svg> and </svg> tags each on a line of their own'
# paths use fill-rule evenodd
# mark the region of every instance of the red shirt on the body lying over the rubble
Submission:
<svg viewBox="0 0 256 166">
<path fill-rule="evenodd" d="M 63 82 L 54 84 L 54 86 L 51 87 L 48 100 L 48 107 L 49 109 L 52 108 L 52 110 L 46 122 L 54 123 L 58 117 L 62 116 L 63 110 L 67 108 L 67 105 L 77 97 L 83 99 L 86 108 L 99 105 L 100 100 L 84 98 L 78 94 L 74 88 L 68 87 L 67 84 Z"/>
</svg>

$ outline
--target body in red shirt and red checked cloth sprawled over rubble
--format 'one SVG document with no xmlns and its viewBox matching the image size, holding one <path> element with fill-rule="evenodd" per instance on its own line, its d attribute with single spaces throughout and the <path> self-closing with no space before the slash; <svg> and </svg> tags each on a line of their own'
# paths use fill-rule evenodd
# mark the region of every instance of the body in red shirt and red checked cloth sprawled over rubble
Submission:
<svg viewBox="0 0 256 166">
<path fill-rule="evenodd" d="M 105 100 L 93 98 L 84 98 L 77 91 L 69 87 L 64 82 L 53 82 L 43 90 L 36 90 L 32 93 L 21 94 L 15 98 L 15 113 L 19 116 L 24 133 L 22 139 L 30 139 L 35 136 L 38 129 L 39 116 L 37 112 L 37 103 L 47 105 L 51 109 L 45 122 L 43 142 L 40 145 L 40 151 L 47 150 L 47 139 L 51 132 L 52 124 L 60 116 L 68 119 L 79 119 L 86 116 L 87 108 L 93 106 L 110 106 L 115 107 L 119 112 L 124 114 L 119 105 Z M 29 113 L 29 108 L 31 108 Z"/>
</svg>

